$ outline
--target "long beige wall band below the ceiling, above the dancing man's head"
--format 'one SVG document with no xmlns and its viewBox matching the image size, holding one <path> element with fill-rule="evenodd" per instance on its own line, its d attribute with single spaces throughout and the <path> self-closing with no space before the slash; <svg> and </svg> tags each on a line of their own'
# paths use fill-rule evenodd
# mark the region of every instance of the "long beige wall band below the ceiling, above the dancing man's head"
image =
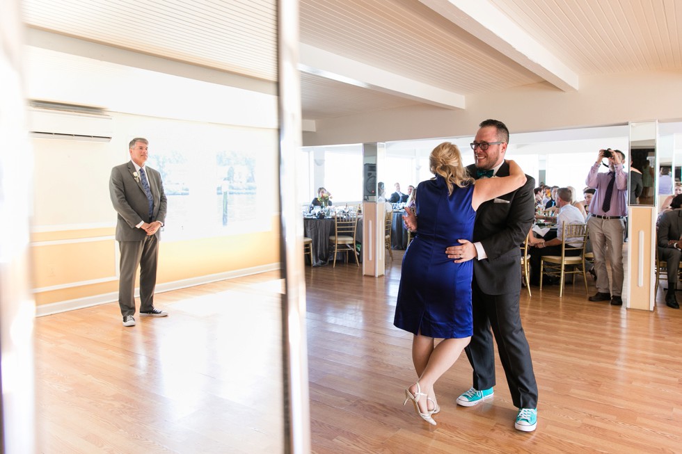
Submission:
<svg viewBox="0 0 682 454">
<path fill-rule="evenodd" d="M 580 89 L 562 92 L 548 83 L 483 95 L 467 95 L 464 110 L 432 106 L 396 108 L 315 122 L 303 145 L 371 143 L 415 138 L 471 136 L 486 118 L 504 121 L 512 133 L 679 120 L 682 70 L 580 76 Z"/>
</svg>

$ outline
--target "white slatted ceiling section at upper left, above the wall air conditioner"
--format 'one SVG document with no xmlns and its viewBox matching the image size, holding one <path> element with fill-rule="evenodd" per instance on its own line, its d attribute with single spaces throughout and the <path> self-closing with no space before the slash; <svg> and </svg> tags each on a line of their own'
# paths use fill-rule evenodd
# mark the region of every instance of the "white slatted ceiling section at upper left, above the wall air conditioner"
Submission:
<svg viewBox="0 0 682 454">
<path fill-rule="evenodd" d="M 27 24 L 276 80 L 274 0 L 26 0 Z"/>
</svg>

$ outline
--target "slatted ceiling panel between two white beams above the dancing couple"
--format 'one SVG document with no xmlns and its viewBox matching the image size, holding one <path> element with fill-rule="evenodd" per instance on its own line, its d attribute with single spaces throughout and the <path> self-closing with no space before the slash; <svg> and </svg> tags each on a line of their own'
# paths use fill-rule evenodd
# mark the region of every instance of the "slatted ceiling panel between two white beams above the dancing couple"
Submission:
<svg viewBox="0 0 682 454">
<path fill-rule="evenodd" d="M 414 0 L 301 0 L 301 42 L 464 95 L 541 80 Z"/>
</svg>

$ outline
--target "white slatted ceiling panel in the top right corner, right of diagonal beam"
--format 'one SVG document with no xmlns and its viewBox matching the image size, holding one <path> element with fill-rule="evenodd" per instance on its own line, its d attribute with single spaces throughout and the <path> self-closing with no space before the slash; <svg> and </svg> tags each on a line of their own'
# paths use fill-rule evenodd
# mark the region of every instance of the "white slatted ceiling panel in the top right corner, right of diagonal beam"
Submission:
<svg viewBox="0 0 682 454">
<path fill-rule="evenodd" d="M 682 67 L 682 1 L 490 1 L 578 74 Z"/>
</svg>

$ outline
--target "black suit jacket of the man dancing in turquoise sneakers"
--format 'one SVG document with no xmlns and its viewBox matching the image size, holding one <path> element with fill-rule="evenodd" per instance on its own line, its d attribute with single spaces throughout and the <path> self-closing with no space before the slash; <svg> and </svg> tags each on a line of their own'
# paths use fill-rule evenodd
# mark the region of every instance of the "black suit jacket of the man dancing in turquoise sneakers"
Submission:
<svg viewBox="0 0 682 454">
<path fill-rule="evenodd" d="M 472 177 L 476 166 L 466 168 Z M 502 164 L 496 174 L 509 176 L 509 164 Z M 479 287 L 489 295 L 521 291 L 521 249 L 535 219 L 535 179 L 525 176 L 525 184 L 495 200 L 483 202 L 476 211 L 473 242 L 483 245 L 486 259 L 474 259 L 474 275 Z"/>
</svg>

